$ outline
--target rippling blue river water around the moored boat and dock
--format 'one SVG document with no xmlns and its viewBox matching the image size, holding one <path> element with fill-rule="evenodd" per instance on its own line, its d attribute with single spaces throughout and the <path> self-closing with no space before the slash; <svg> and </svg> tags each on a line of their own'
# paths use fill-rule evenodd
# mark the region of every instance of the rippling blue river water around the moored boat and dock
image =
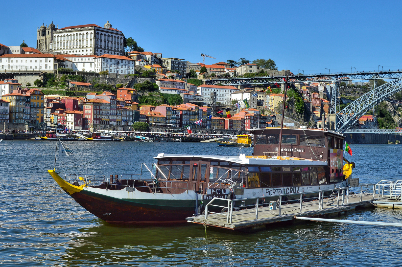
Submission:
<svg viewBox="0 0 402 267">
<path fill-rule="evenodd" d="M 215 143 L 66 142 L 56 171 L 139 173 L 158 153 L 248 154 L 250 148 Z M 256 233 L 183 224 L 116 226 L 96 218 L 47 173 L 53 141 L 0 142 L 1 266 L 401 266 L 401 230 L 392 227 L 306 222 Z M 132 147 L 135 146 L 135 147 Z M 128 150 L 122 151 L 123 149 Z M 399 145 L 352 145 L 360 183 L 401 179 Z M 119 153 L 119 151 L 122 151 Z M 111 157 L 103 158 L 111 153 Z M 350 220 L 400 222 L 402 210 L 349 212 Z"/>
</svg>

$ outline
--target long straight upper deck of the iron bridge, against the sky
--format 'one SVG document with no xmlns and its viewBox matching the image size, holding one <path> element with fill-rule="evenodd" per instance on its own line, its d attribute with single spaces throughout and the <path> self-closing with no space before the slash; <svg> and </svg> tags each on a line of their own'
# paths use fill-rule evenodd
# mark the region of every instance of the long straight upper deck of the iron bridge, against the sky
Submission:
<svg viewBox="0 0 402 267">
<path fill-rule="evenodd" d="M 402 70 L 390 71 L 365 71 L 351 73 L 319 73 L 310 75 L 292 75 L 289 76 L 289 82 L 332 82 L 332 81 L 350 81 L 350 80 L 368 80 L 368 79 L 397 79 L 402 77 Z M 239 86 L 256 84 L 283 83 L 285 76 L 279 77 L 239 77 L 224 79 L 205 79 L 205 84 Z"/>
</svg>

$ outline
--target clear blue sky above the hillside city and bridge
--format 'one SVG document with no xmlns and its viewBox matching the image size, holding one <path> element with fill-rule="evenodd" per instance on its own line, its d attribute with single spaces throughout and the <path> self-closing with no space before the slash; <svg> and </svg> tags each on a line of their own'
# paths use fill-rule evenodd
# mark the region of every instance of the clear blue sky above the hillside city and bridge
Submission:
<svg viewBox="0 0 402 267">
<path fill-rule="evenodd" d="M 297 73 L 402 69 L 398 1 L 10 1 L 0 43 L 36 47 L 37 26 L 106 20 L 145 51 L 215 63 L 273 59 Z M 52 10 L 53 8 L 53 10 Z M 328 70 L 327 70 L 328 71 Z"/>
</svg>

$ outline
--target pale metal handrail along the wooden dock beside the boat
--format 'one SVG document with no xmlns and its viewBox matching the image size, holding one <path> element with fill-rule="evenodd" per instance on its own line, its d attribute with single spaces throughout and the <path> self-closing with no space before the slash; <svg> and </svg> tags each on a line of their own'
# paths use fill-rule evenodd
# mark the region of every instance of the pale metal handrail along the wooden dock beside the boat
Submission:
<svg viewBox="0 0 402 267">
<path fill-rule="evenodd" d="M 374 186 L 375 184 L 373 183 L 367 183 L 367 184 L 362 184 L 362 185 L 358 185 L 355 188 L 360 188 L 360 201 L 362 201 L 362 196 L 363 194 L 365 194 L 365 192 L 363 192 L 363 188 L 367 188 L 367 190 L 371 189 L 371 186 Z M 300 195 L 300 198 L 297 200 L 293 200 L 293 201 L 298 201 L 300 203 L 300 212 L 302 212 L 302 208 L 303 205 L 304 206 L 308 206 L 308 205 L 313 205 L 315 203 L 309 203 L 309 202 L 305 202 L 303 203 L 303 200 L 311 200 L 311 197 L 306 197 L 303 198 L 304 194 L 312 194 L 312 193 L 318 193 L 318 210 L 323 209 L 324 207 L 324 192 L 328 192 L 328 191 L 337 191 L 337 202 L 336 202 L 336 207 L 338 206 L 344 206 L 345 204 L 349 204 L 349 190 L 350 190 L 350 186 L 346 186 L 346 187 L 342 187 L 342 188 L 334 188 L 334 189 L 325 189 L 325 190 L 318 190 L 318 191 L 312 191 L 312 192 L 301 192 L 301 193 L 291 193 L 291 194 L 279 194 L 279 195 L 275 195 L 275 196 L 258 196 L 258 197 L 252 197 L 252 198 L 238 198 L 238 199 L 226 199 L 226 198 L 213 198 L 210 202 L 208 202 L 205 205 L 205 220 L 208 219 L 208 214 L 212 213 L 212 214 L 222 214 L 219 212 L 211 212 L 209 211 L 209 207 L 210 206 L 215 206 L 215 207 L 222 207 L 222 208 L 227 208 L 228 212 L 226 214 L 226 222 L 227 223 L 232 223 L 232 218 L 233 218 L 233 210 L 236 208 L 235 207 L 235 202 L 243 202 L 244 205 L 241 206 L 241 208 L 245 208 L 245 207 L 254 207 L 255 208 L 255 218 L 256 220 L 258 219 L 258 207 L 260 205 L 265 205 L 265 204 L 269 204 L 269 203 L 261 203 L 259 202 L 260 199 L 264 199 L 264 198 L 268 198 L 268 197 L 278 197 L 279 199 L 277 200 L 277 206 L 279 206 L 279 214 L 278 216 L 281 216 L 281 210 L 282 210 L 282 202 L 291 202 L 288 200 L 283 201 L 282 200 L 282 196 L 289 196 L 289 195 Z M 371 192 L 370 192 L 371 194 Z M 330 197 L 330 196 L 328 196 Z M 345 199 L 346 197 L 346 199 Z M 317 199 L 317 198 L 316 198 Z M 374 199 L 374 192 L 373 192 L 373 199 Z M 227 206 L 221 206 L 221 205 L 216 205 L 216 204 L 212 204 L 214 201 L 216 200 L 220 200 L 220 201 L 226 201 L 228 202 Z M 251 205 L 245 205 L 246 204 L 246 200 L 255 200 L 255 202 L 252 202 L 253 204 Z M 339 203 L 341 201 L 341 203 Z M 278 203 L 279 202 L 279 203 Z M 346 202 L 346 203 L 345 203 Z M 279 205 L 278 205 L 279 204 Z M 239 207 L 237 207 L 239 208 Z"/>
</svg>

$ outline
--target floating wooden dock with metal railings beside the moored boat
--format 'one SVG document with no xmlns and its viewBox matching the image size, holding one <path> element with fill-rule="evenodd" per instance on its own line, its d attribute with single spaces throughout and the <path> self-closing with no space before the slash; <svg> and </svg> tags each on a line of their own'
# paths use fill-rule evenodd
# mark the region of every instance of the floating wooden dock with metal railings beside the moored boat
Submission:
<svg viewBox="0 0 402 267">
<path fill-rule="evenodd" d="M 339 216 L 357 207 L 365 208 L 373 206 L 371 204 L 375 199 L 373 188 L 373 184 L 359 185 L 353 188 L 353 191 L 356 191 L 355 193 L 350 192 L 350 187 L 338 188 L 333 190 L 333 194 L 330 196 L 325 196 L 325 194 L 328 194 L 328 191 L 318 191 L 316 195 L 319 197 L 312 201 L 306 201 L 307 198 L 303 194 L 290 194 L 293 197 L 295 195 L 299 196 L 299 200 L 279 201 L 279 199 L 283 199 L 279 195 L 277 202 L 263 204 L 261 203 L 267 197 L 237 200 L 213 198 L 205 206 L 205 215 L 189 217 L 187 221 L 230 230 L 262 230 L 269 224 L 293 221 L 295 220 L 295 216 L 328 218 Z M 311 198 L 308 200 L 311 200 Z M 226 203 L 227 206 L 216 205 L 218 202 Z M 254 204 L 235 207 L 239 202 L 251 202 Z M 228 211 L 220 213 L 211 212 L 213 208 L 216 210 L 221 207 Z"/>
</svg>

